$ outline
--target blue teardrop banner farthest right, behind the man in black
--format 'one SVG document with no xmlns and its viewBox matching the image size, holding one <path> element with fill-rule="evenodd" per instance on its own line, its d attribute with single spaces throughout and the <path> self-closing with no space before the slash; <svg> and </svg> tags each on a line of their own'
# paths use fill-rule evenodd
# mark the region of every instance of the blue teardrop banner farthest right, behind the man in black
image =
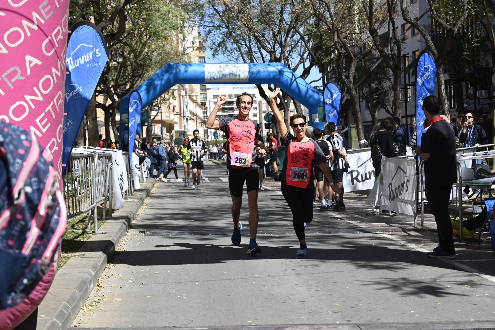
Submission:
<svg viewBox="0 0 495 330">
<path fill-rule="evenodd" d="M 430 53 L 425 52 L 418 60 L 416 68 L 416 139 L 421 146 L 421 135 L 425 130 L 423 122 L 426 119 L 423 111 L 423 99 L 435 93 L 435 78 L 437 66 Z"/>
</svg>

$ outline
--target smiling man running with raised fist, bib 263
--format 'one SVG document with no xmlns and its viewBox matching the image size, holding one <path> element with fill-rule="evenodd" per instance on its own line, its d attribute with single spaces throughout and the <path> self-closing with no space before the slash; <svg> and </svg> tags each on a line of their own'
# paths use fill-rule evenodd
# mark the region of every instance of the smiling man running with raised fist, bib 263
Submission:
<svg viewBox="0 0 495 330">
<path fill-rule="evenodd" d="M 255 151 L 264 156 L 266 151 L 258 144 L 259 124 L 248 118 L 252 107 L 251 94 L 243 93 L 237 97 L 236 105 L 239 114 L 235 117 L 216 118 L 216 114 L 227 97 L 220 95 L 215 108 L 211 111 L 206 127 L 211 130 L 222 130 L 228 140 L 227 168 L 229 170 L 229 189 L 232 197 L 232 220 L 234 233 L 232 244 L 241 244 L 242 224 L 239 222 L 243 201 L 243 187 L 246 181 L 247 200 L 249 204 L 249 232 L 250 240 L 247 253 L 260 253 L 261 248 L 256 242 L 258 230 L 258 169 L 254 162 Z"/>
</svg>

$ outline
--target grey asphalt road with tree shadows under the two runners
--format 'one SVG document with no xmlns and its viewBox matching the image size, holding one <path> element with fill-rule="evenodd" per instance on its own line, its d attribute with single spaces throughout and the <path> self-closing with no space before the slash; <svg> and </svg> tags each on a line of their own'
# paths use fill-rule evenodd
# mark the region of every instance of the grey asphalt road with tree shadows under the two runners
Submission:
<svg viewBox="0 0 495 330">
<path fill-rule="evenodd" d="M 346 211 L 315 205 L 308 254 L 296 256 L 292 214 L 280 184 L 267 181 L 258 198 L 262 253 L 249 255 L 246 193 L 236 247 L 225 167 L 207 161 L 205 171 L 201 190 L 157 185 L 73 325 L 472 329 L 494 320 L 486 239 L 457 242 L 454 261 L 428 258 L 423 251 L 437 245 L 431 216 L 414 228 L 412 217 L 367 214 L 364 197 L 348 194 Z"/>
</svg>

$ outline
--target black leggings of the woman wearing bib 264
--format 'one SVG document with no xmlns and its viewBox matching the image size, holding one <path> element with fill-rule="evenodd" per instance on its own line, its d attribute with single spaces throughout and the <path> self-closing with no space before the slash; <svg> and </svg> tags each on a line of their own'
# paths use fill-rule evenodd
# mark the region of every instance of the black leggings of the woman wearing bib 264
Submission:
<svg viewBox="0 0 495 330">
<path fill-rule="evenodd" d="M 313 220 L 313 190 L 314 188 L 299 188 L 282 185 L 282 194 L 291 208 L 294 231 L 299 240 L 304 239 L 304 223 Z"/>
</svg>

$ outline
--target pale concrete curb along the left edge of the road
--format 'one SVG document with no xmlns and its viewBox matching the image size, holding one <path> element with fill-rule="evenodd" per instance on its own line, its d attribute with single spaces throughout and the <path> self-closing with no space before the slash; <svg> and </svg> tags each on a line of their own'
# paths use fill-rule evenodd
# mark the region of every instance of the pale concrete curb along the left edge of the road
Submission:
<svg viewBox="0 0 495 330">
<path fill-rule="evenodd" d="M 114 211 L 112 217 L 101 226 L 100 231 L 108 234 L 93 235 L 79 250 L 84 252 L 84 256 L 70 258 L 58 270 L 38 307 L 38 330 L 70 327 L 155 184 L 155 180 L 142 183 L 141 189 L 124 202 L 124 207 Z"/>
</svg>

